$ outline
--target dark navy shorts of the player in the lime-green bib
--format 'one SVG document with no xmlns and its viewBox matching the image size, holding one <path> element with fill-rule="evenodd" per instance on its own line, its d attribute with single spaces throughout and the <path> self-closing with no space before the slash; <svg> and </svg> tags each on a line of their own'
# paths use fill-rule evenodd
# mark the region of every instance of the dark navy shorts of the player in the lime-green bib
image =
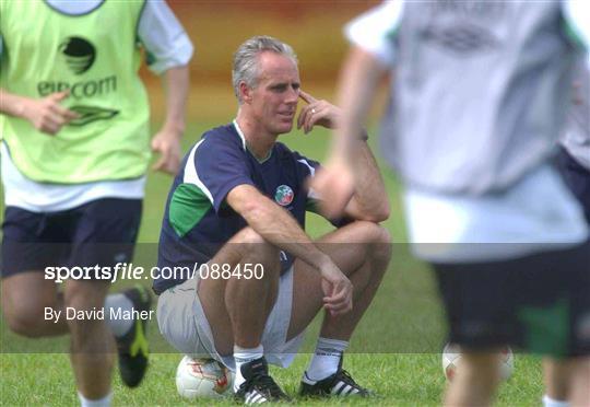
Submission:
<svg viewBox="0 0 590 407">
<path fill-rule="evenodd" d="M 133 255 L 141 199 L 105 198 L 58 212 L 8 207 L 2 223 L 0 275 L 60 266 L 114 266 Z"/>
</svg>

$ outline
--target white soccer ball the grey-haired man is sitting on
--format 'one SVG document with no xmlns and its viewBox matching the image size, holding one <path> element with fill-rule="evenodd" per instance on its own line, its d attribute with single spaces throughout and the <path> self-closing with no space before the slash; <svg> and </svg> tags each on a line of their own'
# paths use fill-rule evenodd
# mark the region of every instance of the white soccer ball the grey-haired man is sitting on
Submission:
<svg viewBox="0 0 590 407">
<path fill-rule="evenodd" d="M 185 356 L 176 369 L 176 389 L 185 398 L 222 397 L 232 384 L 232 372 L 213 359 Z"/>
</svg>

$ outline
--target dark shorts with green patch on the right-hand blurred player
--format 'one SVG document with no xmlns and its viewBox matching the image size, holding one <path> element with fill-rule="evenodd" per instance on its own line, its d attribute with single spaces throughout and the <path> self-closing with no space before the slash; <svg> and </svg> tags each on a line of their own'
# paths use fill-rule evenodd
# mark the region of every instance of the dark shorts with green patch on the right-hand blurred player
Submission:
<svg viewBox="0 0 590 407">
<path fill-rule="evenodd" d="M 554 357 L 590 354 L 590 242 L 434 268 L 449 341 L 473 350 L 510 345 Z"/>
</svg>

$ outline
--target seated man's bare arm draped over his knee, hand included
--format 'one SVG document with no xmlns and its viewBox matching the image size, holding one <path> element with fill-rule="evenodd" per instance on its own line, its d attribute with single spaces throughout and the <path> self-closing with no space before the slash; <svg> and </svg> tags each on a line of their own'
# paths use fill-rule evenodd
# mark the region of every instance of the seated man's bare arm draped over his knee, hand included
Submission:
<svg viewBox="0 0 590 407">
<path fill-rule="evenodd" d="M 330 287 L 324 306 L 334 314 L 352 310 L 352 283 L 332 259 L 320 252 L 285 209 L 251 185 L 239 185 L 227 194 L 227 203 L 270 244 L 284 249 L 319 270 Z"/>
</svg>

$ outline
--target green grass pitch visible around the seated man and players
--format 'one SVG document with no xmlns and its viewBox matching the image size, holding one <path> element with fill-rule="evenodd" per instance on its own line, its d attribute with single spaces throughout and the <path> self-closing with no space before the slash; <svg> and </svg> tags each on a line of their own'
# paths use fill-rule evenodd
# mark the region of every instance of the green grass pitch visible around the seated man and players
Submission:
<svg viewBox="0 0 590 407">
<path fill-rule="evenodd" d="M 209 124 L 211 126 L 217 124 Z M 194 142 L 206 124 L 189 126 L 185 151 Z M 327 146 L 327 131 L 315 131 L 312 136 L 293 135 L 282 139 L 304 154 L 322 159 Z M 371 139 L 371 142 L 375 138 Z M 390 174 L 385 170 L 385 174 Z M 152 174 L 144 203 L 138 257 L 153 263 L 155 242 L 160 233 L 165 198 L 172 178 Z M 355 405 L 429 406 L 439 405 L 445 379 L 440 367 L 439 350 L 444 342 L 441 306 L 435 294 L 428 269 L 414 260 L 404 244 L 406 241 L 403 216 L 398 198 L 399 186 L 391 175 L 386 175 L 387 188 L 392 197 L 392 217 L 386 222 L 393 241 L 393 258 L 384 283 L 359 324 L 352 339 L 345 367 L 358 380 L 377 392 L 378 398 L 370 402 L 357 400 Z M 330 225 L 318 217 L 311 217 L 308 232 L 319 236 Z M 139 261 L 139 260 L 138 260 Z M 125 282 L 122 286 L 131 283 Z M 149 282 L 146 282 L 149 283 Z M 117 284 L 115 289 L 122 287 Z M 302 353 L 286 370 L 273 369 L 273 375 L 285 391 L 295 396 L 299 377 L 309 359 L 318 321 L 308 330 Z M 174 375 L 180 354 L 165 344 L 155 325 L 150 333 L 154 354 L 143 385 L 137 389 L 125 388 L 115 377 L 115 405 L 145 406 L 187 405 L 177 395 Z M 69 365 L 68 339 L 30 340 L 8 332 L 0 319 L 0 405 L 5 406 L 68 406 L 76 405 L 78 398 Z M 516 370 L 498 393 L 498 405 L 538 405 L 542 395 L 540 362 L 533 357 L 516 357 Z M 202 400 L 213 404 L 212 400 Z M 196 404 L 192 402 L 191 404 Z M 228 400 L 215 402 L 233 405 Z M 303 400 L 302 404 L 349 405 L 351 402 Z"/>
</svg>

